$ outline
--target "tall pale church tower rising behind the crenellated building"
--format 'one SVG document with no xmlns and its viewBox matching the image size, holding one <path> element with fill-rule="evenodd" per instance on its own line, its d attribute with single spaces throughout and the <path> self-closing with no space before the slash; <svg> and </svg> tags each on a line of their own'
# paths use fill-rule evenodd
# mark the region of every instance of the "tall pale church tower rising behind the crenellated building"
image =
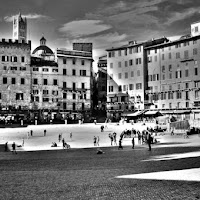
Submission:
<svg viewBox="0 0 200 200">
<path fill-rule="evenodd" d="M 13 39 L 19 41 L 27 41 L 27 21 L 21 13 L 13 17 Z"/>
</svg>

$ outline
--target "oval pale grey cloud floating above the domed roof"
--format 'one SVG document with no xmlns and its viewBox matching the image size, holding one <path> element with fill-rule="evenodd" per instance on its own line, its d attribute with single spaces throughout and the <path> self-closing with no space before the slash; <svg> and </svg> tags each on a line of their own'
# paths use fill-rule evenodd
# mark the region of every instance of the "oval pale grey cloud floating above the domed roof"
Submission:
<svg viewBox="0 0 200 200">
<path fill-rule="evenodd" d="M 78 20 L 64 24 L 59 31 L 65 36 L 80 38 L 111 29 L 112 26 L 104 24 L 101 20 Z"/>
</svg>

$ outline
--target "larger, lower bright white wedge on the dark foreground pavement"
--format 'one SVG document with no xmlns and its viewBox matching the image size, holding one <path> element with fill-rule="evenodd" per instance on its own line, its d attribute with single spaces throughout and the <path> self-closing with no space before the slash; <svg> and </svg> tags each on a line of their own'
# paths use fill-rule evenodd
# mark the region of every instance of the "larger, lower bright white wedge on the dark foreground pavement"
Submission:
<svg viewBox="0 0 200 200">
<path fill-rule="evenodd" d="M 143 173 L 143 174 L 130 174 L 130 175 L 117 176 L 116 178 L 198 181 L 199 182 L 200 168 L 151 172 L 151 173 Z"/>
</svg>

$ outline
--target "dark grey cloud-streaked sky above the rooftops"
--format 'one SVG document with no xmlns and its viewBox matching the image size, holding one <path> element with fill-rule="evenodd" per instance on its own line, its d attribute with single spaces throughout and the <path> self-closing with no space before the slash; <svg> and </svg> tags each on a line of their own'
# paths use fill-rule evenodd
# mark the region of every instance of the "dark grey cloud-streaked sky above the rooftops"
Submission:
<svg viewBox="0 0 200 200">
<path fill-rule="evenodd" d="M 47 46 L 72 49 L 92 42 L 94 59 L 106 49 L 152 38 L 190 33 L 200 21 L 198 0 L 0 0 L 0 38 L 12 38 L 12 16 L 27 17 L 32 51 L 42 36 Z"/>
</svg>

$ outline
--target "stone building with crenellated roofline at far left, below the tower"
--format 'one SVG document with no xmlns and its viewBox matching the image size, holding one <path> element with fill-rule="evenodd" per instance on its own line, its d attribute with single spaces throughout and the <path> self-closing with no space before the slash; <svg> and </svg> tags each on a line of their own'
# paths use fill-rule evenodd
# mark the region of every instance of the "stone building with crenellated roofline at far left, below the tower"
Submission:
<svg viewBox="0 0 200 200">
<path fill-rule="evenodd" d="M 2 110 L 31 108 L 31 42 L 0 42 L 0 103 Z"/>
</svg>

